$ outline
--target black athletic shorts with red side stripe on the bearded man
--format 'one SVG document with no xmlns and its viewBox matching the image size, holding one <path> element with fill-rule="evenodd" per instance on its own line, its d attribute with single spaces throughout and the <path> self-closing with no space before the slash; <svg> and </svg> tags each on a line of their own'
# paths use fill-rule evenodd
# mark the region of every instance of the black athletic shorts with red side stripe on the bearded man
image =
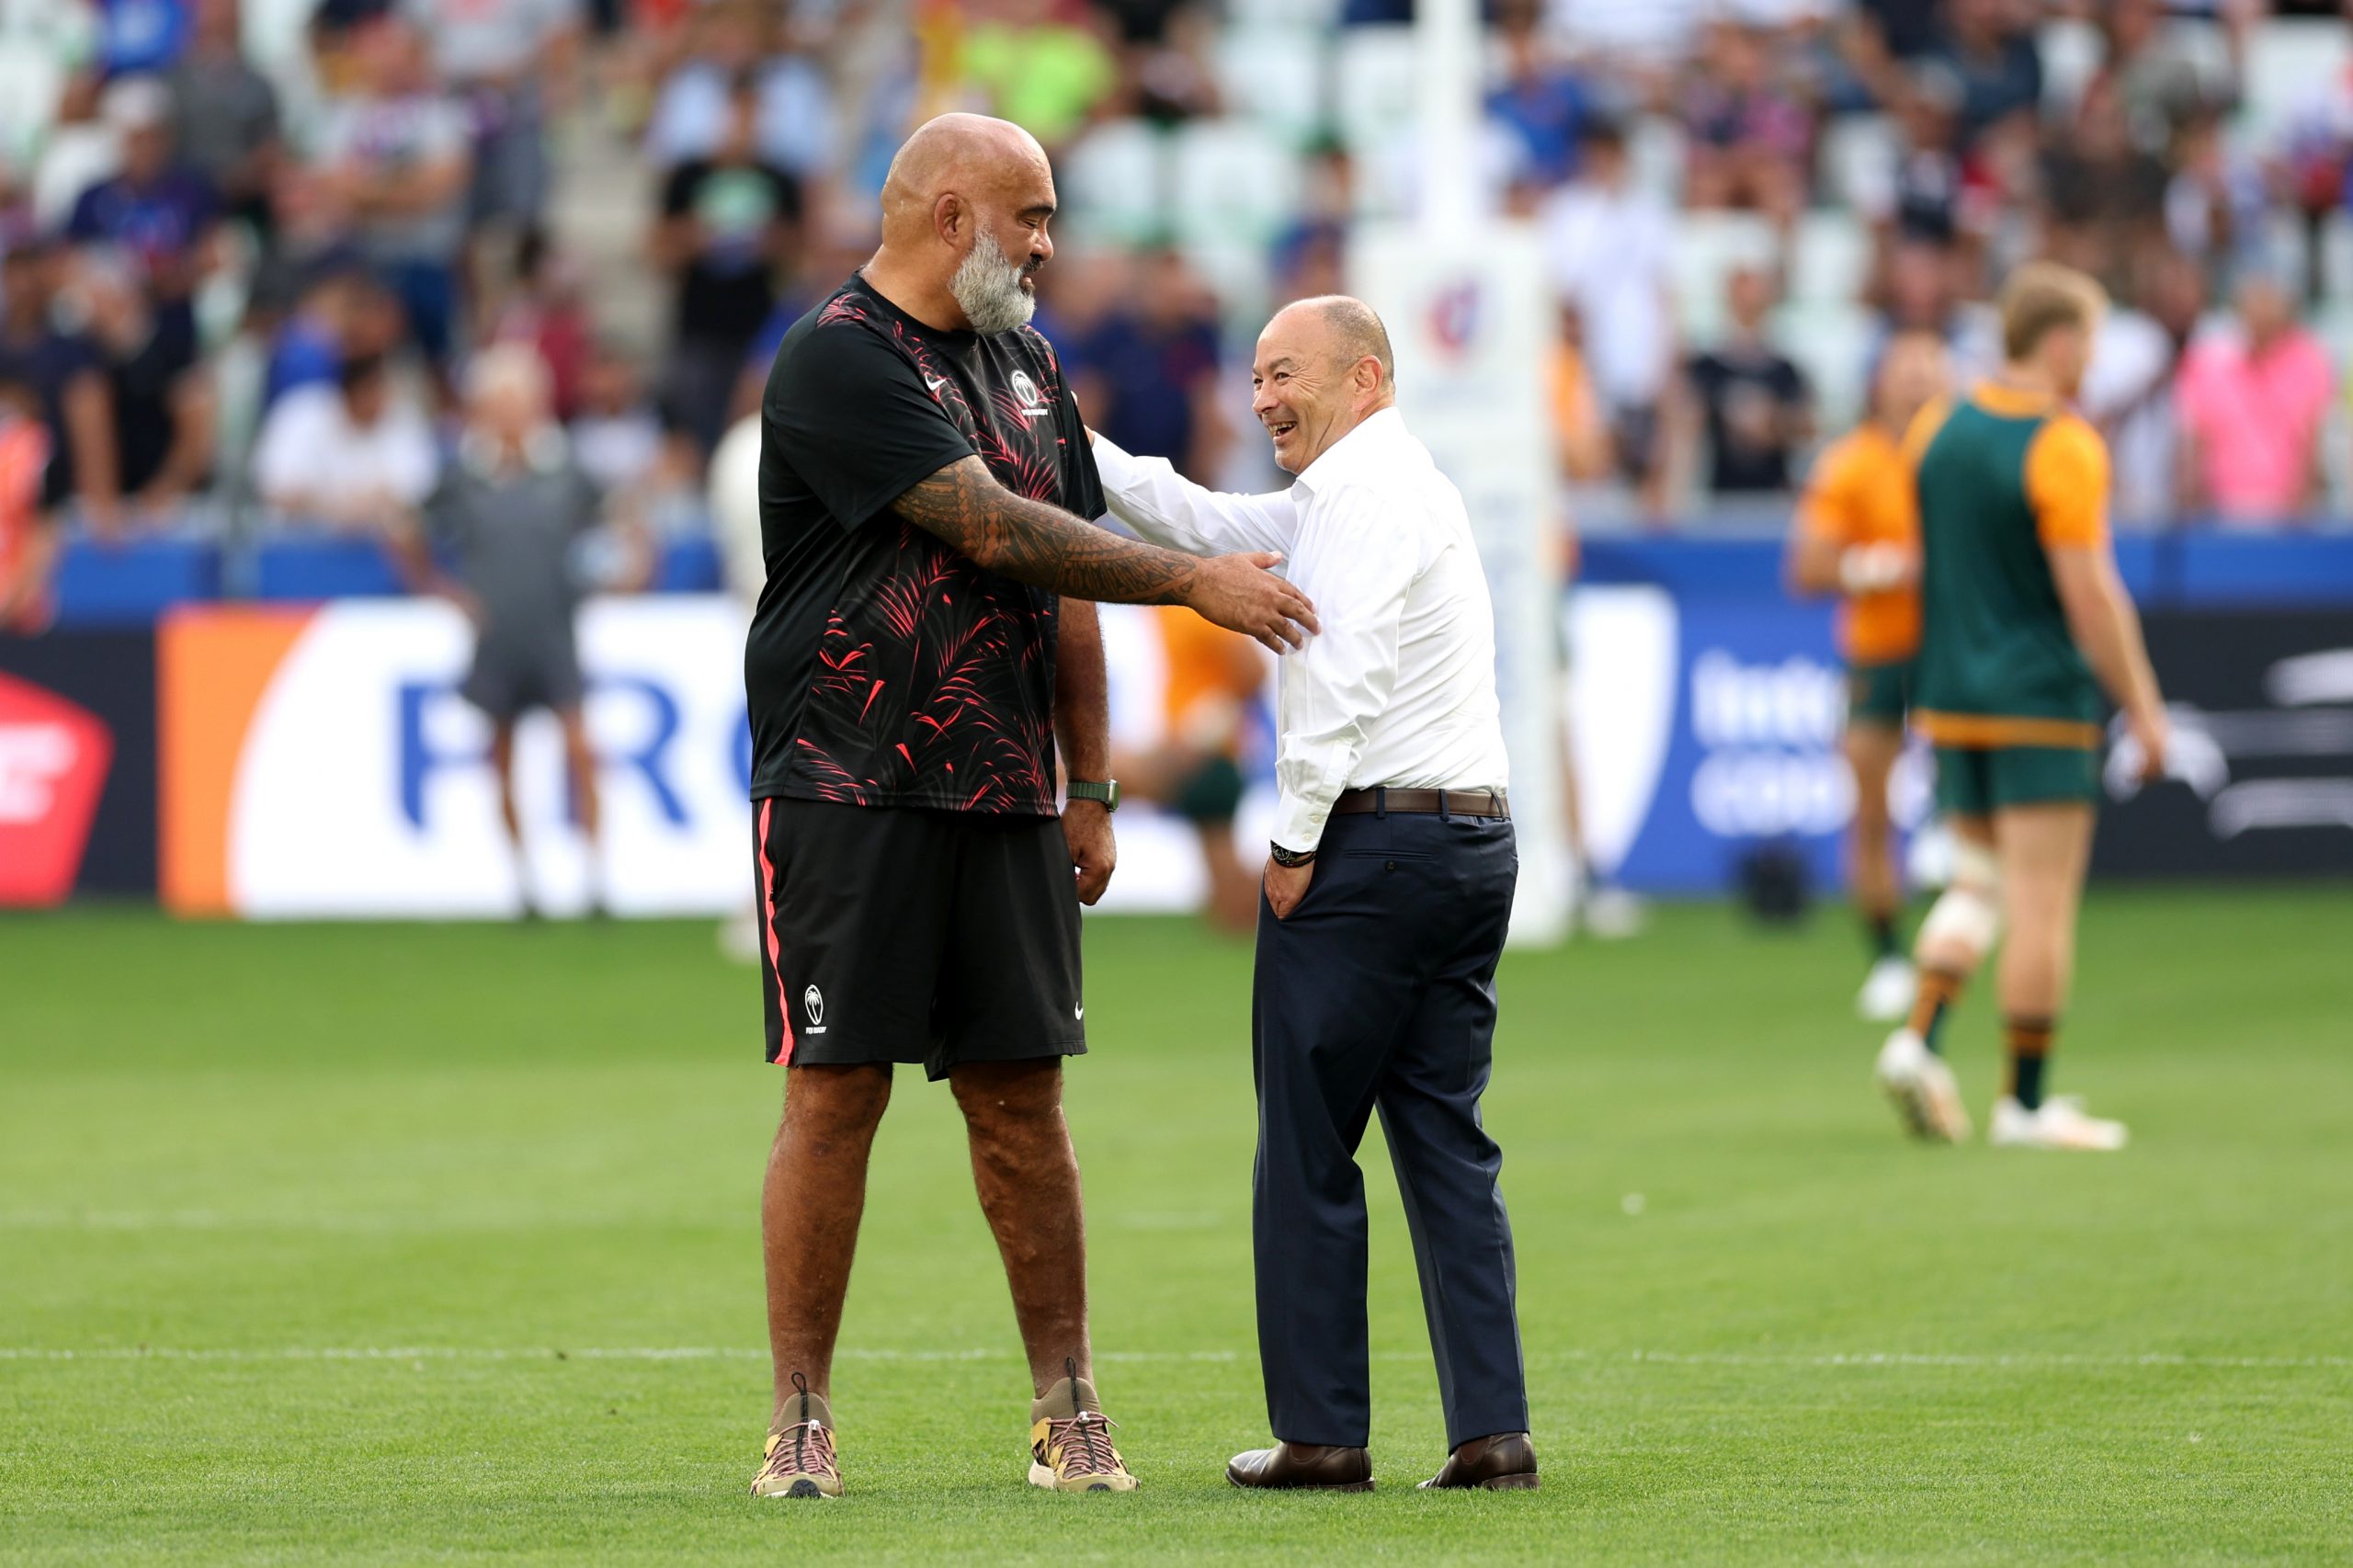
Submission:
<svg viewBox="0 0 2353 1568">
<path fill-rule="evenodd" d="M 1056 817 L 753 800 L 767 1059 L 1087 1050 L 1078 883 Z"/>
</svg>

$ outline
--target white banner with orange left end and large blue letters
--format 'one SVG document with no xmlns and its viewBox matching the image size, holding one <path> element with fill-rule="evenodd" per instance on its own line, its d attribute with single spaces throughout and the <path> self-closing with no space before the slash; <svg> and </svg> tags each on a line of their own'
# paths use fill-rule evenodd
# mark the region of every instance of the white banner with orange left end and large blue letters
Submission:
<svg viewBox="0 0 2353 1568">
<path fill-rule="evenodd" d="M 722 596 L 595 600 L 581 614 L 598 753 L 598 881 L 616 913 L 751 899 L 744 612 Z M 1155 739 L 1148 619 L 1106 614 L 1125 739 Z M 433 600 L 193 607 L 160 631 L 165 904 L 252 918 L 492 918 L 588 897 L 555 723 L 515 749 L 525 857 L 499 824 L 489 727 L 459 695 L 473 638 Z M 1188 909 L 1191 833 L 1120 812 L 1106 909 Z"/>
</svg>

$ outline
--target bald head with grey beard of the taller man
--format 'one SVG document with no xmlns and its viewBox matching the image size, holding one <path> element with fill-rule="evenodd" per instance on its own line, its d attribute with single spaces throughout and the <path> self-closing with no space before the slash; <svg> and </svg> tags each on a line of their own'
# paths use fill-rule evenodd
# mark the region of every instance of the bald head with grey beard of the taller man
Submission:
<svg viewBox="0 0 2353 1568">
<path fill-rule="evenodd" d="M 882 181 L 882 250 L 866 280 L 936 327 L 1007 332 L 1035 308 L 1054 254 L 1054 170 L 1012 120 L 939 115 Z"/>
</svg>

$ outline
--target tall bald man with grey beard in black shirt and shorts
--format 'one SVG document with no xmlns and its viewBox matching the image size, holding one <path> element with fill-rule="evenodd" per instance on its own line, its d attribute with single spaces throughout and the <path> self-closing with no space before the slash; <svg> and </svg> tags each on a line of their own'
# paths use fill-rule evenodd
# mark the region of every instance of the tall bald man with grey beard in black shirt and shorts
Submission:
<svg viewBox="0 0 2353 1568">
<path fill-rule="evenodd" d="M 1085 426 L 1028 327 L 1052 217 L 1026 132 L 927 122 L 882 188 L 882 247 L 786 332 L 762 400 L 744 676 L 767 1057 L 788 1074 L 760 1203 L 760 1497 L 842 1493 L 833 1342 L 896 1062 L 965 1114 L 1031 1363 L 1031 1483 L 1136 1486 L 1094 1394 L 1061 1116 L 1061 1057 L 1087 1048 L 1078 906 L 1111 878 L 1118 805 L 1087 600 L 1191 605 L 1273 647 L 1315 619 L 1271 551 L 1195 560 L 1092 523 Z"/>
</svg>

